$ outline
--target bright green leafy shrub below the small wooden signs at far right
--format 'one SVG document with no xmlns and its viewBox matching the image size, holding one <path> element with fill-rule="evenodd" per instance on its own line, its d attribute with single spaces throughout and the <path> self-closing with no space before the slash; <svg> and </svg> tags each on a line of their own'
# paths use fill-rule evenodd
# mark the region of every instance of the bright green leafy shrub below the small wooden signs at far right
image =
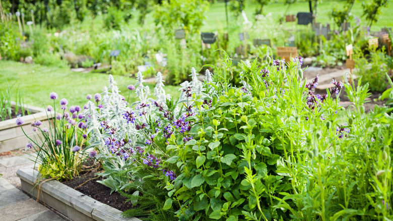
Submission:
<svg viewBox="0 0 393 221">
<path fill-rule="evenodd" d="M 384 50 L 372 51 L 369 57 L 364 57 L 360 50 L 355 50 L 353 60 L 357 71 L 355 75 L 361 76 L 363 84 L 368 84 L 371 91 L 384 91 L 387 86 L 385 73 L 386 58 Z"/>
</svg>

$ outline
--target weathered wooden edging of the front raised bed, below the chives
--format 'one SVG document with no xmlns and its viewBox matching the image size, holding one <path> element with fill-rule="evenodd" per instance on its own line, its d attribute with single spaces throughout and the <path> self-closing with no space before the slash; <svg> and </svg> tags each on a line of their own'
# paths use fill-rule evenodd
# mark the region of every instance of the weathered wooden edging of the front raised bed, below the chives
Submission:
<svg viewBox="0 0 393 221">
<path fill-rule="evenodd" d="M 17 175 L 21 179 L 23 191 L 34 198 L 39 198 L 41 203 L 72 220 L 140 221 L 135 217 L 123 218 L 120 210 L 98 202 L 56 180 L 43 180 L 37 184 L 40 174 L 31 167 L 19 169 Z"/>
</svg>

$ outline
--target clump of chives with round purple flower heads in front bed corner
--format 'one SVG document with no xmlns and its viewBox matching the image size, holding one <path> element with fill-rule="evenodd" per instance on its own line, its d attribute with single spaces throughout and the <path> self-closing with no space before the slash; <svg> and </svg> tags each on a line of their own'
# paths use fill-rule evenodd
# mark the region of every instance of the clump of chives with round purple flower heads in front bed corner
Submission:
<svg viewBox="0 0 393 221">
<path fill-rule="evenodd" d="M 82 151 L 87 138 L 85 116 L 80 106 L 71 106 L 68 112 L 68 101 L 65 98 L 59 101 L 61 113 L 56 113 L 58 96 L 52 92 L 49 97 L 53 100 L 53 106 L 46 107 L 47 125 L 41 121 L 32 122 L 31 128 L 35 133 L 29 137 L 22 127 L 23 119 L 18 118 L 16 124 L 21 126 L 30 140 L 26 148 L 35 152 L 34 162 L 39 163 L 39 172 L 45 178 L 69 180 L 78 176 L 81 162 L 87 155 Z M 90 153 L 91 157 L 95 155 L 94 152 Z"/>
</svg>

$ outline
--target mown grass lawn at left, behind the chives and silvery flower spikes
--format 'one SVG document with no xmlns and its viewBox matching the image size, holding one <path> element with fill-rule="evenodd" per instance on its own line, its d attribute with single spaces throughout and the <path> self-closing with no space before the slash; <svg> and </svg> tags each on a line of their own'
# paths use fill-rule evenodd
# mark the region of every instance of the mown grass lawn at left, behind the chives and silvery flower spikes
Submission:
<svg viewBox="0 0 393 221">
<path fill-rule="evenodd" d="M 114 76 L 121 94 L 127 98 L 127 85 L 135 84 L 136 79 Z M 9 84 L 12 88 L 12 99 L 15 99 L 17 87 L 25 104 L 43 107 L 43 103 L 51 104 L 50 92 L 54 91 L 59 98 L 67 98 L 69 106 L 86 103 L 86 95 L 102 92 L 102 88 L 108 85 L 108 75 L 98 73 L 76 73 L 70 69 L 46 67 L 41 65 L 23 64 L 13 61 L 0 61 L 0 93 L 4 92 Z M 152 94 L 154 84 L 147 84 Z M 166 86 L 166 92 L 177 98 L 178 86 Z M 132 93 L 132 95 L 135 92 Z M 136 98 L 134 98 L 135 100 Z"/>
</svg>

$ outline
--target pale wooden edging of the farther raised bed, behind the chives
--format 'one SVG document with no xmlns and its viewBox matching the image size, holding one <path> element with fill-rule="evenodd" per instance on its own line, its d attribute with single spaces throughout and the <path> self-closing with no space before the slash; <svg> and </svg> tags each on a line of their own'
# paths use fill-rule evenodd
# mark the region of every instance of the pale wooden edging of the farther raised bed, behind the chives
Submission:
<svg viewBox="0 0 393 221">
<path fill-rule="evenodd" d="M 16 103 L 11 101 L 11 106 L 15 107 L 15 105 Z M 46 113 L 44 108 L 30 105 L 23 106 L 32 114 L 21 117 L 25 122 L 22 127 L 26 134 L 34 139 L 33 137 L 37 135 L 31 130 L 30 123 L 33 121 L 41 121 L 43 124 L 48 125 L 48 117 L 49 119 L 52 118 L 51 116 L 54 117 L 54 112 Z M 0 122 L 0 153 L 23 148 L 26 146 L 26 143 L 29 142 L 29 139 L 23 133 L 21 127 L 16 125 L 15 121 L 14 118 Z"/>
</svg>

